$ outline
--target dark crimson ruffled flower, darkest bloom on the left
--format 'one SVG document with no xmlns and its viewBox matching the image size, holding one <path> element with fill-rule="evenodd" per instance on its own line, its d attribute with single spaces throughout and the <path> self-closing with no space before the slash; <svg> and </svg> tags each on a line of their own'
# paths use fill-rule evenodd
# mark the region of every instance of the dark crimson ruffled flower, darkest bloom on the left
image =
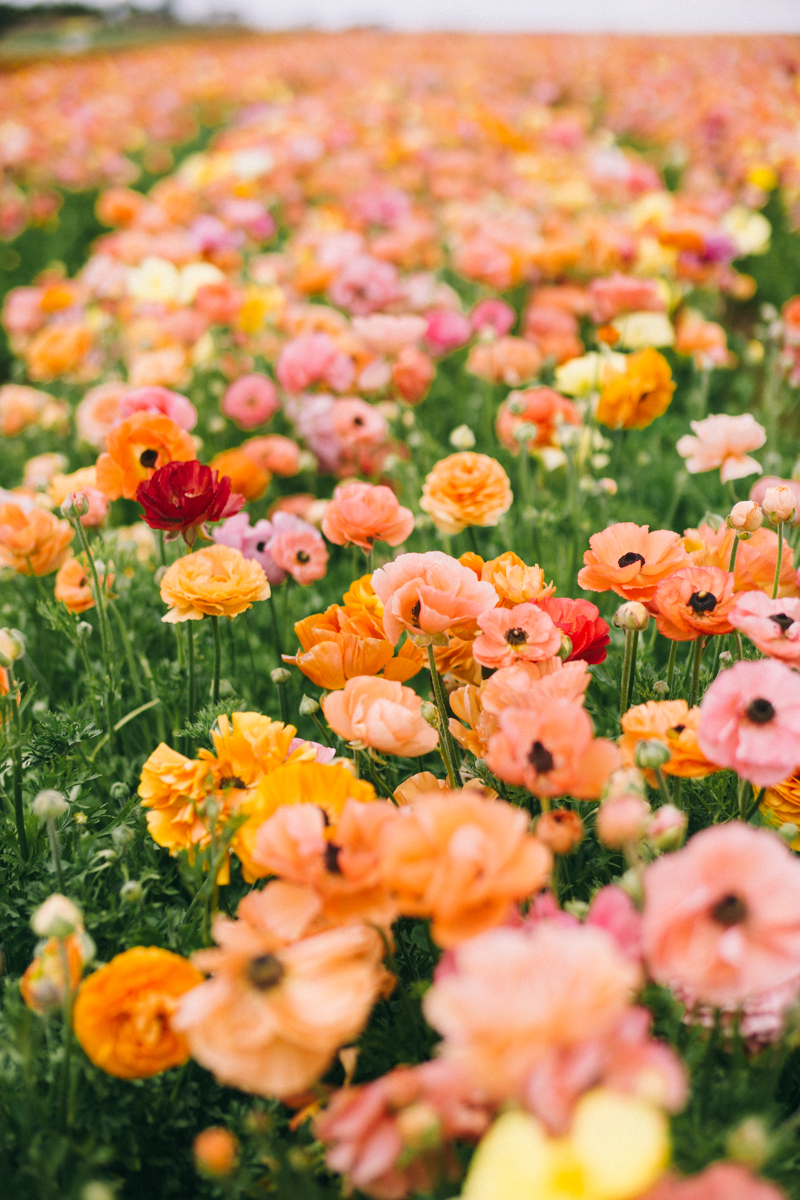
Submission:
<svg viewBox="0 0 800 1200">
<path fill-rule="evenodd" d="M 216 470 L 197 458 L 160 467 L 139 484 L 136 498 L 151 529 L 166 529 L 164 541 L 182 534 L 187 546 L 194 545 L 198 529 L 209 538 L 210 521 L 231 517 L 245 503 L 243 496 L 231 493 L 228 475 L 219 479 Z"/>
</svg>

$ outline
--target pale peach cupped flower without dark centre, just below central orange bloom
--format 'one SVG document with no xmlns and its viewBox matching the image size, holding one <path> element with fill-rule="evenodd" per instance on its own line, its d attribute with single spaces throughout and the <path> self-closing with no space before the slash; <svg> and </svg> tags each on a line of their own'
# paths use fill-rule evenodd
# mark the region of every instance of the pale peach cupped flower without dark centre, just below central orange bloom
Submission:
<svg viewBox="0 0 800 1200">
<path fill-rule="evenodd" d="M 361 676 L 323 698 L 325 720 L 345 742 L 413 758 L 429 754 L 439 733 L 420 713 L 420 696 L 391 679 Z"/>
</svg>

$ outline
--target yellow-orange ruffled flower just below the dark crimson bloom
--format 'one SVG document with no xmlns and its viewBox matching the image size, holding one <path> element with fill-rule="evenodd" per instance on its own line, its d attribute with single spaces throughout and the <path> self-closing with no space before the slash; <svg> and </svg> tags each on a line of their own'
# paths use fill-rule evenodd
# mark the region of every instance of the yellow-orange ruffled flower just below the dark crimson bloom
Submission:
<svg viewBox="0 0 800 1200">
<path fill-rule="evenodd" d="M 161 619 L 176 624 L 203 617 L 235 617 L 269 594 L 270 584 L 258 563 L 230 546 L 206 546 L 167 568 L 161 599 L 169 605 L 169 612 Z"/>
</svg>

